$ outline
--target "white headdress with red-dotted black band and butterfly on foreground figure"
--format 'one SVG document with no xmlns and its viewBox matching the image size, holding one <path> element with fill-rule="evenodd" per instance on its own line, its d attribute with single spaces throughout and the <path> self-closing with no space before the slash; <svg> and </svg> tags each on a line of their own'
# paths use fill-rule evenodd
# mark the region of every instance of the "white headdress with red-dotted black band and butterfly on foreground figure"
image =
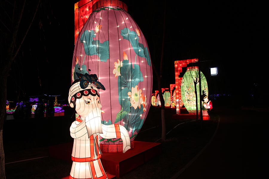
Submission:
<svg viewBox="0 0 269 179">
<path fill-rule="evenodd" d="M 91 71 L 89 69 L 89 71 Z M 104 85 L 98 81 L 96 74 L 82 74 L 76 72 L 78 79 L 76 79 L 72 86 L 69 89 L 68 102 L 70 105 L 74 105 L 76 99 L 81 98 L 82 96 L 88 95 L 99 95 L 98 89 L 106 90 Z"/>
</svg>

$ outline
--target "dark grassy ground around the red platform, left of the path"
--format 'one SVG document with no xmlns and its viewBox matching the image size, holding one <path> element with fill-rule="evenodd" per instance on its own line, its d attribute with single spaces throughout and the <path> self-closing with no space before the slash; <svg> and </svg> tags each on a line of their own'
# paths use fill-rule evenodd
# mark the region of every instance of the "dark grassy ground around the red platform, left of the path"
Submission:
<svg viewBox="0 0 269 179">
<path fill-rule="evenodd" d="M 171 178 L 210 141 L 219 120 L 214 109 L 219 108 L 221 107 L 218 105 L 215 105 L 215 108 L 213 106 L 210 112 L 211 120 L 203 121 L 202 125 L 201 121 L 195 119 L 173 119 L 175 108 L 166 108 L 166 140 L 161 141 L 161 109 L 150 107 L 145 123 L 135 140 L 161 143 L 161 155 L 152 158 L 121 179 Z M 61 179 L 68 176 L 72 163 L 51 158 L 48 146 L 73 141 L 69 134 L 69 127 L 73 121 L 71 115 L 71 112 L 66 112 L 62 117 L 5 121 L 3 142 L 6 178 Z M 56 130 L 59 129 L 61 132 L 57 134 Z M 36 159 L 27 160 L 32 158 Z"/>
</svg>

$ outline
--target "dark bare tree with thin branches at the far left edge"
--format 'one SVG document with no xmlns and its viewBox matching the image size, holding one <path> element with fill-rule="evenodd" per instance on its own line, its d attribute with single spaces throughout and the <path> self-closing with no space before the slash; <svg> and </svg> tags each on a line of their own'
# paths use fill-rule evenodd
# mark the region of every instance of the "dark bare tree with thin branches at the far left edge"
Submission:
<svg viewBox="0 0 269 179">
<path fill-rule="evenodd" d="M 25 5 L 29 5 L 30 2 L 26 3 L 24 1 L 11 1 L 5 4 L 4 1 L 1 1 L 1 7 L 5 11 L 5 17 L 2 24 L 4 24 L 4 28 L 1 29 L 2 36 L 0 38 L 0 42 L 5 44 L 1 46 L 1 55 L 0 55 L 0 178 L 5 179 L 5 155 L 4 155 L 4 146 L 3 146 L 3 126 L 4 121 L 6 119 L 6 101 L 7 101 L 7 76 L 10 71 L 10 67 L 13 64 L 16 55 L 18 54 L 20 47 L 22 46 L 25 37 L 30 30 L 31 25 L 33 24 L 33 20 L 36 16 L 40 1 L 36 4 L 36 8 L 33 8 L 33 16 L 28 25 L 23 25 L 23 27 L 19 26 L 21 23 L 22 15 L 24 13 Z M 32 2 L 31 2 L 32 3 Z M 6 9 L 5 7 L 10 7 L 12 5 L 14 9 Z M 12 13 L 10 13 L 12 12 Z M 26 12 L 27 13 L 27 12 Z M 28 12 L 29 13 L 29 12 Z M 8 18 L 7 18 L 8 17 Z M 18 37 L 20 39 L 18 39 Z"/>
</svg>

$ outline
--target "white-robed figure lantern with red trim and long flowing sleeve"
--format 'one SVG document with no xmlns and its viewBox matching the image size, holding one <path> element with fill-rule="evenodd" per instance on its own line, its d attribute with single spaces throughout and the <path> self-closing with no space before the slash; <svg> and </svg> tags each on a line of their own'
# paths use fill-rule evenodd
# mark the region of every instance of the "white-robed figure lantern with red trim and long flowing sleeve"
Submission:
<svg viewBox="0 0 269 179">
<path fill-rule="evenodd" d="M 75 108 L 78 117 L 71 124 L 70 135 L 74 138 L 72 150 L 72 167 L 70 179 L 108 178 L 101 163 L 102 152 L 99 146 L 99 135 L 102 138 L 121 138 L 123 153 L 131 148 L 128 131 L 119 124 L 104 125 L 101 123 L 100 94 L 105 90 L 97 75 L 77 73 L 68 96 L 70 107 Z"/>
</svg>

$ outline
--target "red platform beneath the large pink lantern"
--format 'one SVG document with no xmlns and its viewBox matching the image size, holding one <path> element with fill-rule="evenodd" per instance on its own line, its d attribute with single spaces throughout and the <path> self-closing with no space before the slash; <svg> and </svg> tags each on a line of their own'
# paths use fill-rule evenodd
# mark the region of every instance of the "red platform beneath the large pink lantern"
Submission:
<svg viewBox="0 0 269 179">
<path fill-rule="evenodd" d="M 122 177 L 136 167 L 161 154 L 161 143 L 134 141 L 134 148 L 123 152 L 103 152 L 101 162 L 109 179 Z M 71 160 L 73 142 L 49 147 L 49 154 L 53 158 L 65 161 Z M 62 178 L 68 179 L 69 176 Z"/>
</svg>

